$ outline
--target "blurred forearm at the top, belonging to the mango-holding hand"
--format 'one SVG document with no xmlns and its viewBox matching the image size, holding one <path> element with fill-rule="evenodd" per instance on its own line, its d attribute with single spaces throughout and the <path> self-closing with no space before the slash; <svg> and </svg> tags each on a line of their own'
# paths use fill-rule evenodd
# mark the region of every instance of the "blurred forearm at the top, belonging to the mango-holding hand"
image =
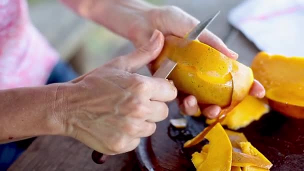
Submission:
<svg viewBox="0 0 304 171">
<path fill-rule="evenodd" d="M 138 36 L 135 26 L 147 11 L 153 9 L 150 3 L 143 0 L 61 0 L 79 15 L 89 18 L 111 31 L 135 41 Z M 142 22 L 144 24 L 144 22 Z"/>
</svg>

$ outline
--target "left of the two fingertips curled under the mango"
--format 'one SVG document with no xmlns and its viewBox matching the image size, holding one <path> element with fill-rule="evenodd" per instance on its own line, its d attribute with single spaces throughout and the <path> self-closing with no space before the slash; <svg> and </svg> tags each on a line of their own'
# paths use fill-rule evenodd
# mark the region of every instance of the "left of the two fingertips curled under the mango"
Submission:
<svg viewBox="0 0 304 171">
<path fill-rule="evenodd" d="M 198 105 L 195 96 L 188 95 L 183 98 L 183 103 L 180 104 L 180 110 L 187 115 L 194 115 L 197 113 Z"/>
</svg>

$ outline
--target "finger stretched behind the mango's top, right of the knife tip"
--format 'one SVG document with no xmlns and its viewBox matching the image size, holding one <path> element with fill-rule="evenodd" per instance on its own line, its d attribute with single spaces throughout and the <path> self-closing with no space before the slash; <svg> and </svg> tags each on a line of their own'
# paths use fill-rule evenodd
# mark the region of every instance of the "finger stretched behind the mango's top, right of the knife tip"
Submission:
<svg viewBox="0 0 304 171">
<path fill-rule="evenodd" d="M 216 50 L 232 59 L 237 59 L 238 57 L 238 54 L 236 52 L 229 49 L 219 37 L 207 29 L 200 34 L 198 39 L 199 41 L 208 44 L 209 46 L 215 48 Z"/>
</svg>

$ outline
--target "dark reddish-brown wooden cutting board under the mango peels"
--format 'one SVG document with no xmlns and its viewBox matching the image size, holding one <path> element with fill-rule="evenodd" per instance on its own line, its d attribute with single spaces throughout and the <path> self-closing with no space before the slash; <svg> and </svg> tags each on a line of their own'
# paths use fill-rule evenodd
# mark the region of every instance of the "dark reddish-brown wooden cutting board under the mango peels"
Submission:
<svg viewBox="0 0 304 171">
<path fill-rule="evenodd" d="M 181 115 L 175 102 L 168 106 L 168 118 L 157 123 L 155 133 L 143 138 L 135 149 L 140 167 L 142 170 L 195 170 L 190 158 L 194 151 L 200 151 L 201 144 L 187 149 L 183 149 L 182 144 L 206 126 L 205 118 L 186 117 L 187 127 L 176 129 L 169 124 L 169 119 Z M 237 131 L 243 132 L 272 162 L 271 170 L 304 170 L 304 119 L 270 111 Z"/>
</svg>

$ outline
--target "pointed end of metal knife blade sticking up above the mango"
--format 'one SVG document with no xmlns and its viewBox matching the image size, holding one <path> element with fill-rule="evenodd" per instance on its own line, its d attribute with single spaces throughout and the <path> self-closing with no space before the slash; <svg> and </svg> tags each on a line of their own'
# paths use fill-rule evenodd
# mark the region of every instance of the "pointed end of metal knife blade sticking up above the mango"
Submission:
<svg viewBox="0 0 304 171">
<path fill-rule="evenodd" d="M 212 17 L 209 17 L 203 22 L 199 22 L 187 35 L 186 39 L 195 40 L 201 34 L 201 32 L 214 20 L 214 18 L 219 14 L 220 11 L 217 11 Z"/>
</svg>

